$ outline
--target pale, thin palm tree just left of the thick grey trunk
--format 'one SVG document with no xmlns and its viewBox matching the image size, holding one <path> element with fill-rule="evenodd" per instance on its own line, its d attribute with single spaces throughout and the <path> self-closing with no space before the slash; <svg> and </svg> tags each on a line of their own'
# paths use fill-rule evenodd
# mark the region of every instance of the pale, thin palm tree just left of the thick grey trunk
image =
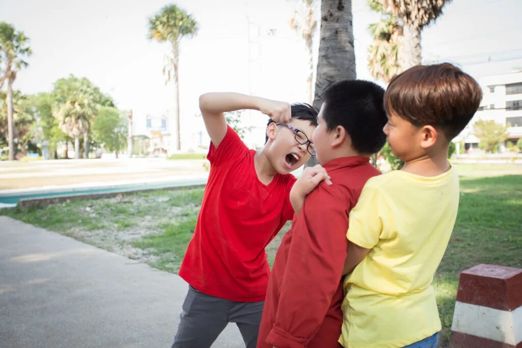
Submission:
<svg viewBox="0 0 522 348">
<path fill-rule="evenodd" d="M 290 27 L 295 30 L 306 44 L 309 72 L 306 78 L 308 103 L 312 103 L 312 83 L 314 79 L 313 38 L 317 21 L 314 19 L 314 0 L 300 0 L 299 7 L 290 19 Z"/>
</svg>

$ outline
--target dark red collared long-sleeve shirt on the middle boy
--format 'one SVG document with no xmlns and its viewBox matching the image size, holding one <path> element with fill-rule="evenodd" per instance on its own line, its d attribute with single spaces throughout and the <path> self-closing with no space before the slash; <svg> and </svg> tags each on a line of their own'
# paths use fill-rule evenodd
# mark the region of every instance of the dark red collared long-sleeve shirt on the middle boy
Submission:
<svg viewBox="0 0 522 348">
<path fill-rule="evenodd" d="M 348 215 L 366 180 L 379 174 L 367 157 L 323 166 L 332 185 L 310 193 L 284 236 L 268 282 L 258 348 L 337 348 Z"/>
</svg>

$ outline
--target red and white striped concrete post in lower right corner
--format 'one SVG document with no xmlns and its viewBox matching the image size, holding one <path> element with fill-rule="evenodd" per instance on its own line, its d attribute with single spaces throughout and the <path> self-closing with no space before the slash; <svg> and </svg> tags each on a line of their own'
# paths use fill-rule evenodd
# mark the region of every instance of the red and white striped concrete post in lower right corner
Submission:
<svg viewBox="0 0 522 348">
<path fill-rule="evenodd" d="M 452 348 L 522 348 L 522 270 L 479 264 L 462 273 Z"/>
</svg>

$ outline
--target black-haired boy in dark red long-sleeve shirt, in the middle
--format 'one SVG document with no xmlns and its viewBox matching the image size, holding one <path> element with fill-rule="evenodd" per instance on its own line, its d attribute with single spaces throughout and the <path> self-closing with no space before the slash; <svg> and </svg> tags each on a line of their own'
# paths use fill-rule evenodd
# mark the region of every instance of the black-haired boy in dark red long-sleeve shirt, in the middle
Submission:
<svg viewBox="0 0 522 348">
<path fill-rule="evenodd" d="M 387 118 L 384 89 L 374 83 L 342 81 L 325 97 L 313 142 L 326 173 L 306 168 L 290 194 L 295 215 L 272 268 L 258 348 L 340 347 L 348 214 L 379 175 L 369 157 L 386 141 Z"/>
</svg>

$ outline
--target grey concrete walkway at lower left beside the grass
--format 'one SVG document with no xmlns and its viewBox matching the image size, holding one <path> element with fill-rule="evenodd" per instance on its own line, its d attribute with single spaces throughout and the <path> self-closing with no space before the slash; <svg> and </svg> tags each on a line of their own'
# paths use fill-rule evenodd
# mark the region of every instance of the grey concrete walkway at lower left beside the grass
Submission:
<svg viewBox="0 0 522 348">
<path fill-rule="evenodd" d="M 174 274 L 0 216 L 2 348 L 170 347 L 186 291 Z M 230 324 L 212 347 L 244 344 Z"/>
</svg>

